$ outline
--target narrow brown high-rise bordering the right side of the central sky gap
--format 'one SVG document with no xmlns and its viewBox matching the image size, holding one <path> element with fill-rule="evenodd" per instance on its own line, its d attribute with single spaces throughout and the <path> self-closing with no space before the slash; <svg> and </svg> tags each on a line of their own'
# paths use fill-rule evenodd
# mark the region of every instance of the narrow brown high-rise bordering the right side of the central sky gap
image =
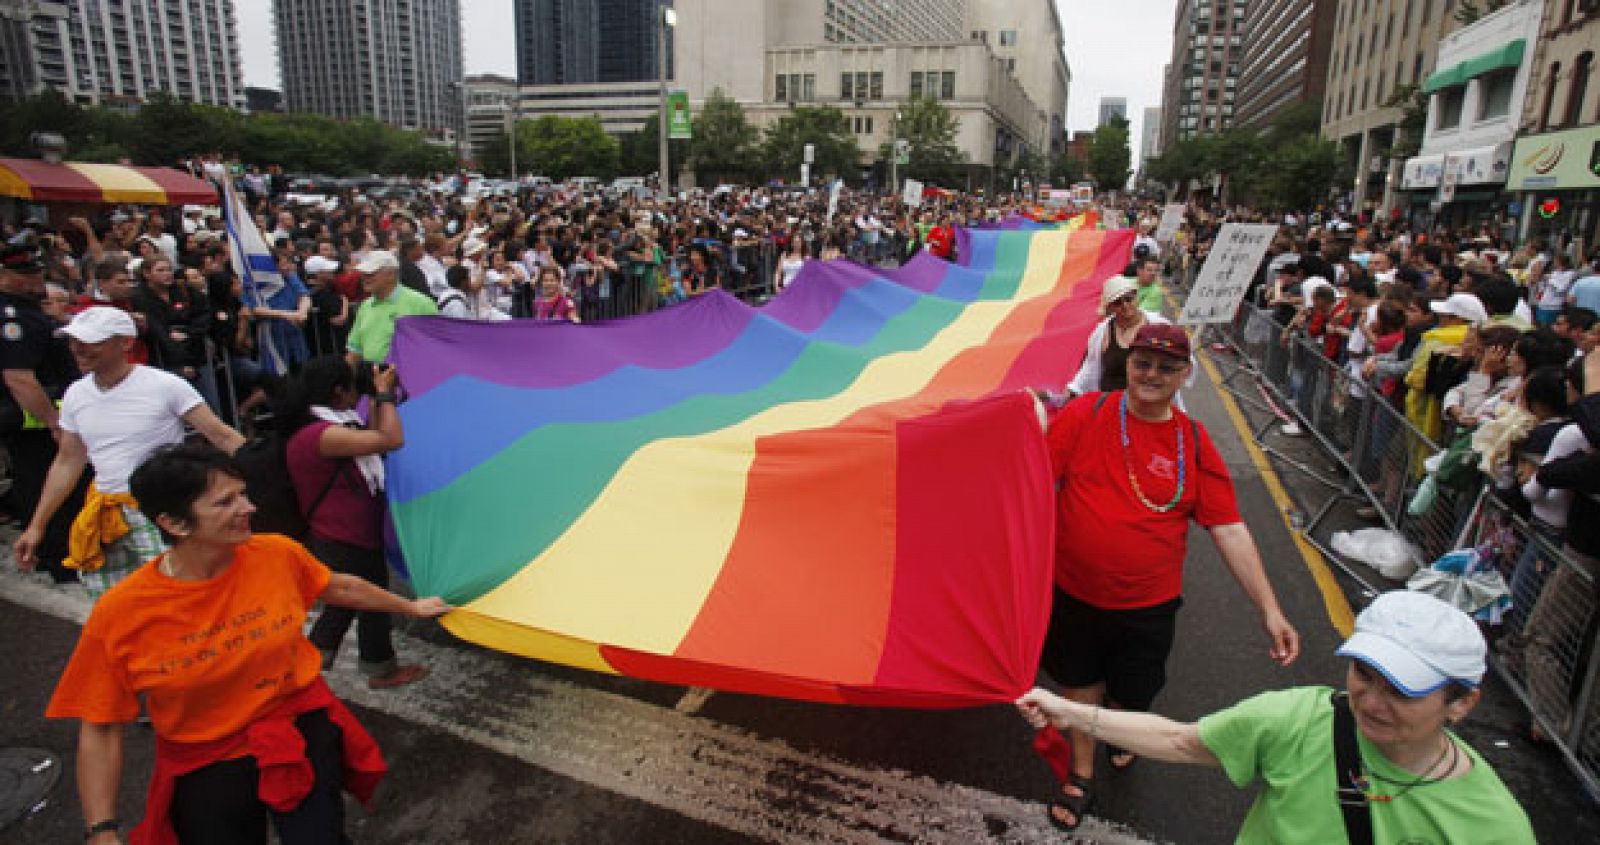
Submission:
<svg viewBox="0 0 1600 845">
<path fill-rule="evenodd" d="M 1234 125 L 1248 0 L 1178 0 L 1162 96 L 1162 147 Z"/>
</svg>

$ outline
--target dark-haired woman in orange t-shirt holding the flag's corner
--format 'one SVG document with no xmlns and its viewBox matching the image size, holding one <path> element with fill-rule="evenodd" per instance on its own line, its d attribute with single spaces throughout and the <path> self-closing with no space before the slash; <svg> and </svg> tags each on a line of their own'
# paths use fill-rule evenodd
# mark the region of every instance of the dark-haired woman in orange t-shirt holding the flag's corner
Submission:
<svg viewBox="0 0 1600 845">
<path fill-rule="evenodd" d="M 306 611 L 450 607 L 333 575 L 290 538 L 251 536 L 238 466 L 211 447 L 158 451 L 130 485 L 171 549 L 94 605 L 46 711 L 82 722 L 86 842 L 122 842 L 122 736 L 141 695 L 157 746 L 134 843 L 266 843 L 269 816 L 285 845 L 341 840 L 341 786 L 370 805 L 384 762 L 322 680 Z"/>
</svg>

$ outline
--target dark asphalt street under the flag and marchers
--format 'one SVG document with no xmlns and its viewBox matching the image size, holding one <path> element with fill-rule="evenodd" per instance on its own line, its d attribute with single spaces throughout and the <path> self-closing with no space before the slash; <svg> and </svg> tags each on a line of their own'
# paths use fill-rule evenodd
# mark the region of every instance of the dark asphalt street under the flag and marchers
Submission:
<svg viewBox="0 0 1600 845">
<path fill-rule="evenodd" d="M 1274 584 L 1304 637 L 1291 669 L 1266 656 L 1248 603 L 1203 535 L 1194 538 L 1171 685 L 1157 709 L 1192 719 L 1251 693 L 1338 683 L 1339 635 L 1291 541 L 1280 504 L 1208 382 L 1190 410 L 1216 434 Z M 10 536 L 5 536 L 10 546 Z M 86 613 L 80 592 L 0 570 L 0 747 L 62 755 L 69 770 L 0 843 L 75 842 L 74 725 L 40 714 Z M 1045 842 L 1046 768 L 1010 707 L 918 712 L 714 695 L 694 712 L 683 690 L 482 651 L 437 626 L 410 626 L 402 653 L 426 682 L 371 693 L 354 655 L 333 674 L 392 765 L 357 842 Z M 349 651 L 354 651 L 354 643 Z M 1560 760 L 1522 739 L 1523 714 L 1490 685 L 1466 736 L 1525 802 L 1544 840 L 1600 840 L 1600 813 Z M 122 818 L 136 819 L 152 738 L 130 728 Z M 1106 773 L 1091 842 L 1232 842 L 1250 803 L 1216 771 L 1141 762 Z M 1107 824 L 1101 819 L 1115 819 Z"/>
</svg>

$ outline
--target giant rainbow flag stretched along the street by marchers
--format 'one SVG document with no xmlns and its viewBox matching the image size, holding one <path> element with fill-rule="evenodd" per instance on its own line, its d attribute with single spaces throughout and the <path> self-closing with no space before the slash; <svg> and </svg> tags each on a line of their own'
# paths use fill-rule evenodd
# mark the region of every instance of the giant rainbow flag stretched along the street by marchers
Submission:
<svg viewBox="0 0 1600 845">
<path fill-rule="evenodd" d="M 1061 386 L 1131 232 L 960 232 L 600 325 L 400 322 L 389 496 L 456 635 L 669 683 L 952 707 L 1034 683 Z"/>
</svg>

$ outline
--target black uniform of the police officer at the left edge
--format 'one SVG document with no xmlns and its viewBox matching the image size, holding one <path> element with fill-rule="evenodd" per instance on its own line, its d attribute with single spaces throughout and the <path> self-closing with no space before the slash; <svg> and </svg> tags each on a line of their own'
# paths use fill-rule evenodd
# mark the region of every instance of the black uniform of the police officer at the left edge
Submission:
<svg viewBox="0 0 1600 845">
<path fill-rule="evenodd" d="M 27 370 L 38 379 L 53 402 L 78 378 L 77 365 L 64 339 L 56 338 L 56 323 L 38 301 L 27 296 L 0 293 L 0 370 Z M 45 475 L 56 459 L 56 439 L 37 421 L 26 422 L 21 405 L 10 387 L 0 381 L 0 442 L 11 455 L 11 491 L 5 509 L 19 522 L 34 515 L 34 507 L 45 490 Z M 85 477 L 88 474 L 85 472 Z M 56 511 L 38 547 L 42 568 L 58 581 L 70 581 L 70 570 L 61 567 L 67 557 L 67 531 L 83 509 L 86 482 Z"/>
</svg>

